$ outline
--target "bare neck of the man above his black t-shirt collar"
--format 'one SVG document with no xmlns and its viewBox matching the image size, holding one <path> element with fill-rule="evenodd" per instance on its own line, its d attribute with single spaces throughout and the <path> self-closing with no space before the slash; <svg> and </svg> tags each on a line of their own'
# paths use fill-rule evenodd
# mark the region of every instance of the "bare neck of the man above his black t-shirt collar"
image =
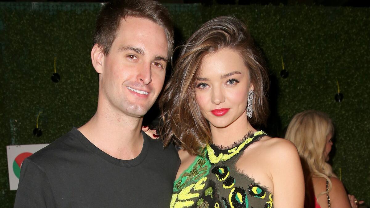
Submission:
<svg viewBox="0 0 370 208">
<path fill-rule="evenodd" d="M 142 117 L 106 112 L 98 108 L 88 123 L 78 130 L 96 147 L 121 160 L 136 158 L 144 144 Z"/>
</svg>

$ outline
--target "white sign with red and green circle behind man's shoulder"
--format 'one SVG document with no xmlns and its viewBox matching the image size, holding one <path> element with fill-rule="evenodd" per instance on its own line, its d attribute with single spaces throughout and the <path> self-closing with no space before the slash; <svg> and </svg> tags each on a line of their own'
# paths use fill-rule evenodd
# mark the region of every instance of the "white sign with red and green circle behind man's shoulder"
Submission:
<svg viewBox="0 0 370 208">
<path fill-rule="evenodd" d="M 28 144 L 6 146 L 10 190 L 17 190 L 18 188 L 23 160 L 47 145 L 48 144 Z"/>
</svg>

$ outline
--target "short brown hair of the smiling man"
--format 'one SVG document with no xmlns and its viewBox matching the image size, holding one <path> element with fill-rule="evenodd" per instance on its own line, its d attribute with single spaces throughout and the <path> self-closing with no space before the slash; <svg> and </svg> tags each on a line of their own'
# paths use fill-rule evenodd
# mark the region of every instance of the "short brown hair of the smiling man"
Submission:
<svg viewBox="0 0 370 208">
<path fill-rule="evenodd" d="M 98 15 L 94 44 L 102 47 L 108 55 L 112 43 L 117 36 L 121 20 L 126 17 L 140 17 L 153 21 L 163 27 L 168 43 L 168 58 L 172 56 L 174 47 L 174 29 L 168 10 L 153 0 L 121 0 L 104 4 Z"/>
</svg>

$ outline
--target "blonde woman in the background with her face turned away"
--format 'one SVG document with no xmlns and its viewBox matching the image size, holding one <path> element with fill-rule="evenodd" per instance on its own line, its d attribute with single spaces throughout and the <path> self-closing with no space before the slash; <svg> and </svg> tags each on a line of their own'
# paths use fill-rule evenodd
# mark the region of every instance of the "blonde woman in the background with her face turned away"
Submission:
<svg viewBox="0 0 370 208">
<path fill-rule="evenodd" d="M 296 114 L 290 121 L 285 138 L 292 141 L 302 159 L 306 181 L 305 207 L 357 207 L 347 197 L 342 182 L 327 163 L 332 150 L 333 123 L 329 116 L 314 110 Z"/>
</svg>

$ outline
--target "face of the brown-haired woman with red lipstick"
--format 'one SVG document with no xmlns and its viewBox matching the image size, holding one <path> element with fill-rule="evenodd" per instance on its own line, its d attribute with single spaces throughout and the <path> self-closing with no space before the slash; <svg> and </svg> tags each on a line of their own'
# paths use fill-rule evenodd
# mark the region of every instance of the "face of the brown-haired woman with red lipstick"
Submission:
<svg viewBox="0 0 370 208">
<path fill-rule="evenodd" d="M 253 90 L 249 70 L 239 53 L 223 48 L 203 58 L 196 81 L 196 101 L 213 127 L 247 119 L 248 93 Z"/>
</svg>

